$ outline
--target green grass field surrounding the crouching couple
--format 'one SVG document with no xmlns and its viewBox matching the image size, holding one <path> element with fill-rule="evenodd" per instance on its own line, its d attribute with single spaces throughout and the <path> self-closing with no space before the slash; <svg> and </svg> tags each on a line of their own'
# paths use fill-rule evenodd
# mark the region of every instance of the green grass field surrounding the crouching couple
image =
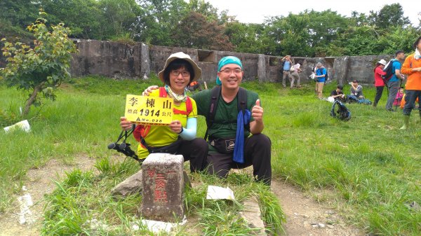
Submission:
<svg viewBox="0 0 421 236">
<path fill-rule="evenodd" d="M 11 195 L 18 193 L 29 168 L 44 165 L 51 158 L 72 162 L 75 155 L 83 154 L 98 158 L 97 168 L 101 174 L 72 172 L 59 183 L 61 187 L 48 196 L 52 210 L 46 214 L 44 232 L 57 232 L 57 235 L 84 232 L 80 223 L 91 217 L 88 214 L 92 209 L 105 209 L 104 212 L 112 216 L 108 219 L 111 223 L 128 222 L 130 216 L 123 213 L 133 208 L 130 202 L 135 199 L 109 204 L 95 200 L 100 199 L 102 188 L 112 187 L 117 180 L 136 170 L 133 165 L 110 164 L 110 151 L 106 146 L 118 135 L 125 95 L 140 94 L 148 85 L 157 83 L 156 78 L 147 82 L 73 78 L 60 88 L 55 102 L 47 102 L 41 110 L 32 109 L 27 117 L 32 132 L 0 132 L 0 211 L 10 207 Z M 329 116 L 332 104 L 314 98 L 313 84 L 300 90 L 282 89 L 279 83 L 247 82 L 243 86 L 260 94 L 265 109 L 264 133 L 272 139 L 273 178 L 287 179 L 312 193 L 316 200 L 338 207 L 349 223 L 359 225 L 367 233 L 420 235 L 421 211 L 409 207 L 411 202 L 421 204 L 421 123 L 415 123 L 420 120 L 416 111 L 411 116 L 410 129 L 402 131 L 399 130 L 401 110 L 392 113 L 383 109 L 387 92 L 377 109 L 347 104 L 352 118 L 342 122 Z M 328 95 L 333 89 L 335 85 L 328 84 L 323 94 Z M 348 91 L 349 85 L 346 85 L 345 92 Z M 363 92 L 373 100 L 373 88 L 365 87 Z M 2 127 L 21 120 L 19 106 L 23 106 L 25 96 L 1 86 L 0 97 Z M 201 137 L 205 126 L 201 118 Z M 204 183 L 220 183 L 218 179 L 201 175 L 193 178 Z M 233 176 L 226 181 L 238 186 L 242 196 L 271 194 L 244 176 Z M 250 193 L 250 188 L 258 190 Z M 203 190 L 190 193 L 189 212 L 199 214 L 208 222 L 206 225 L 221 221 L 218 217 L 223 216 L 232 225 L 239 225 L 234 230 L 241 230 L 242 222 L 229 218 L 226 211 L 218 211 L 236 211 L 238 206 L 203 207 L 197 197 Z M 87 196 L 90 204 L 81 205 L 81 197 Z M 271 214 L 281 214 L 281 209 L 277 209 L 279 205 L 265 197 L 260 199 L 272 207 L 267 212 L 267 220 L 273 223 L 272 230 L 279 230 L 277 224 L 281 220 L 271 219 Z M 59 218 L 62 225 L 57 223 Z M 60 231 L 72 229 L 72 225 L 75 231 Z M 124 230 L 121 226 L 115 234 Z M 215 230 L 221 232 L 218 230 L 222 229 L 209 228 L 206 232 L 212 235 Z M 247 232 L 232 233 L 247 235 Z"/>
</svg>

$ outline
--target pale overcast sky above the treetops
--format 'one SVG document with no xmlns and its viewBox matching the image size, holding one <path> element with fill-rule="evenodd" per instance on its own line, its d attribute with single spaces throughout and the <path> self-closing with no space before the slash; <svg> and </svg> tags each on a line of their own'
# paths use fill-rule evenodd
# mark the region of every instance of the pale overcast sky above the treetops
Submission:
<svg viewBox="0 0 421 236">
<path fill-rule="evenodd" d="M 385 5 L 399 3 L 403 8 L 403 15 L 408 17 L 414 26 L 420 24 L 419 13 L 421 12 L 420 0 L 205 0 L 218 11 L 228 10 L 228 15 L 235 15 L 239 22 L 262 23 L 265 16 L 287 16 L 288 13 L 298 14 L 305 9 L 325 11 L 330 8 L 340 15 L 351 16 L 352 11 L 366 13 L 380 11 Z"/>
</svg>

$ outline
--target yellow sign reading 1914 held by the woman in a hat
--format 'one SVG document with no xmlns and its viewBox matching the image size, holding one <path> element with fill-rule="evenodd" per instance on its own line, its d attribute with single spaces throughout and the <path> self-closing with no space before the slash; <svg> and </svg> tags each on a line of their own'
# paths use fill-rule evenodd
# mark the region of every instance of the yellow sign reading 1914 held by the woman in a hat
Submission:
<svg viewBox="0 0 421 236">
<path fill-rule="evenodd" d="M 174 100 L 170 97 L 127 95 L 127 120 L 140 125 L 168 125 L 173 120 Z"/>
</svg>

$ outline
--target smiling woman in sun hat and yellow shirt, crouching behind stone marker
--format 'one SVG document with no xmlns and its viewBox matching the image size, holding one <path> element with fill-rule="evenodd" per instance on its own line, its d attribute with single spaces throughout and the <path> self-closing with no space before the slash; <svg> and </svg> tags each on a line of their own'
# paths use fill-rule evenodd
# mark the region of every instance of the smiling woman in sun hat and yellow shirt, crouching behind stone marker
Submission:
<svg viewBox="0 0 421 236">
<path fill-rule="evenodd" d="M 139 158 L 149 153 L 171 153 L 183 155 L 190 160 L 192 172 L 202 171 L 206 165 L 208 144 L 205 139 L 196 138 L 197 106 L 194 99 L 186 95 L 186 87 L 201 77 L 201 69 L 185 53 L 174 53 L 165 62 L 158 77 L 165 84 L 149 96 L 172 97 L 174 99 L 173 121 L 170 125 L 137 125 L 133 132 L 138 146 Z M 123 130 L 130 130 L 133 124 L 125 117 L 120 118 Z"/>
</svg>

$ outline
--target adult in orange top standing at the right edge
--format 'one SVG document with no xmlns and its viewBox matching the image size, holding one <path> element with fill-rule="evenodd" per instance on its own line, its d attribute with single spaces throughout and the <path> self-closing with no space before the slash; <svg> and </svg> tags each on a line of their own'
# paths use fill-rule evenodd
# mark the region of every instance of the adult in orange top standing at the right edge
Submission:
<svg viewBox="0 0 421 236">
<path fill-rule="evenodd" d="M 406 103 L 403 106 L 403 126 L 401 130 L 408 129 L 410 112 L 415 107 L 415 100 L 421 103 L 421 36 L 413 44 L 415 53 L 408 55 L 402 64 L 401 73 L 408 75 L 406 81 Z M 421 110 L 420 110 L 421 118 Z"/>
</svg>

